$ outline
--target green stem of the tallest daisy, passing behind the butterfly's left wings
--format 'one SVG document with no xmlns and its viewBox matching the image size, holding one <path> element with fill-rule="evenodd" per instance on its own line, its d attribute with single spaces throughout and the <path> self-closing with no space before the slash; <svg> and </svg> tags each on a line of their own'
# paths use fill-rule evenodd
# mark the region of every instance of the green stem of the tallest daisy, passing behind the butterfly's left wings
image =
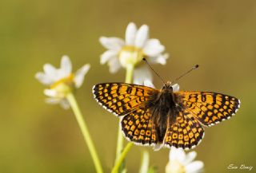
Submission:
<svg viewBox="0 0 256 173">
<path fill-rule="evenodd" d="M 134 73 L 134 65 L 127 65 L 126 67 L 126 83 L 132 83 L 133 81 L 133 73 Z M 117 164 L 119 157 L 122 153 L 123 147 L 123 136 L 122 136 L 122 129 L 121 124 L 119 124 L 118 128 L 118 144 L 117 144 L 117 151 L 116 151 L 116 159 L 115 165 Z M 123 161 L 123 159 L 122 159 Z M 120 165 L 119 165 L 120 166 Z"/>
</svg>

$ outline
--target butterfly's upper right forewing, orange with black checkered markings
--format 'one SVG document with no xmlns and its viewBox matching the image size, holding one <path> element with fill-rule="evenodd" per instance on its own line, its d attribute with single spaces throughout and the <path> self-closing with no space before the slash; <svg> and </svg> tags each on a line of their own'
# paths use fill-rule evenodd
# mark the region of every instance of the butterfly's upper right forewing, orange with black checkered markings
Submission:
<svg viewBox="0 0 256 173">
<path fill-rule="evenodd" d="M 240 100 L 216 92 L 174 92 L 174 95 L 179 105 L 206 126 L 230 119 L 240 108 Z"/>
</svg>

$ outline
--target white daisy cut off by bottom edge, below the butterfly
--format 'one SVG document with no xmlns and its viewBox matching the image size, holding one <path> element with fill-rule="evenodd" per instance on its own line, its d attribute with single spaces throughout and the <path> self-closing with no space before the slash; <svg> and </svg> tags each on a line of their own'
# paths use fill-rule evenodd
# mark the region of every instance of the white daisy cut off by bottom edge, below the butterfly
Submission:
<svg viewBox="0 0 256 173">
<path fill-rule="evenodd" d="M 196 151 L 185 153 L 182 148 L 170 149 L 169 163 L 166 165 L 166 173 L 198 173 L 203 171 L 202 161 L 193 161 Z"/>
</svg>

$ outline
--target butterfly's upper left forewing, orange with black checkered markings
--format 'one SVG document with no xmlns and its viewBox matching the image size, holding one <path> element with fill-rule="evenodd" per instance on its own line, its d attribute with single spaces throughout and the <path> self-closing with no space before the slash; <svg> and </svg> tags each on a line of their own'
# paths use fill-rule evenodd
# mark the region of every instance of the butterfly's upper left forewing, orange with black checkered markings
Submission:
<svg viewBox="0 0 256 173">
<path fill-rule="evenodd" d="M 94 85 L 94 98 L 116 116 L 124 116 L 145 105 L 154 88 L 126 83 L 105 83 Z"/>
</svg>

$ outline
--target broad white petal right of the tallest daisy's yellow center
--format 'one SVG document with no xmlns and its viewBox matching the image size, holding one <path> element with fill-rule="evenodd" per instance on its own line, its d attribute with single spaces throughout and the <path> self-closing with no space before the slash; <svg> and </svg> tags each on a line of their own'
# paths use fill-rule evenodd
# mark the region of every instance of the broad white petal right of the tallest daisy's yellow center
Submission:
<svg viewBox="0 0 256 173">
<path fill-rule="evenodd" d="M 165 50 L 165 46 L 161 45 L 158 39 L 150 39 L 146 41 L 146 44 L 143 48 L 143 53 L 149 57 L 158 56 Z"/>
</svg>

